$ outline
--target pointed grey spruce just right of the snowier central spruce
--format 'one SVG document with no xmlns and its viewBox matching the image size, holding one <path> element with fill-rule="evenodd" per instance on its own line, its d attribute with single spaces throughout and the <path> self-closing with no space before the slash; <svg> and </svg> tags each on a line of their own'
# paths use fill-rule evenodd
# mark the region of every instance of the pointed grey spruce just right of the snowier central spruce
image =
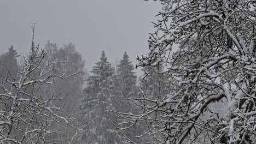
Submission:
<svg viewBox="0 0 256 144">
<path fill-rule="evenodd" d="M 127 100 L 126 98 L 134 98 L 138 94 L 138 88 L 136 86 L 137 76 L 133 71 L 135 68 L 130 61 L 127 53 L 124 53 L 123 59 L 117 65 L 117 79 L 115 82 L 115 96 L 113 98 L 113 110 L 120 112 L 132 112 L 139 111 L 139 107 Z M 113 113 L 112 113 L 113 115 Z M 113 121 L 120 123 L 121 118 L 118 115 L 113 115 Z M 131 141 L 136 143 L 145 143 L 145 141 L 136 137 L 144 131 L 143 123 L 136 123 L 129 131 L 122 131 Z M 144 125 L 144 124 L 143 124 Z M 128 140 L 129 141 L 129 140 Z"/>
</svg>

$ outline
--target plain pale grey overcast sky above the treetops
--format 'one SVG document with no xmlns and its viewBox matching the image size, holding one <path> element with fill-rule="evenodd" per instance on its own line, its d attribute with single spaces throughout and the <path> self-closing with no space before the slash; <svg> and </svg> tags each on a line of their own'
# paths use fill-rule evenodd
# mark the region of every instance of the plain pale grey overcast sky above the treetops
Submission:
<svg viewBox="0 0 256 144">
<path fill-rule="evenodd" d="M 38 22 L 35 41 L 58 46 L 75 44 L 89 71 L 101 51 L 111 63 L 126 51 L 133 64 L 148 51 L 148 33 L 161 10 L 158 2 L 143 0 L 22 0 L 0 2 L 0 53 L 14 45 L 19 53 L 30 50 L 32 25 Z"/>
</svg>

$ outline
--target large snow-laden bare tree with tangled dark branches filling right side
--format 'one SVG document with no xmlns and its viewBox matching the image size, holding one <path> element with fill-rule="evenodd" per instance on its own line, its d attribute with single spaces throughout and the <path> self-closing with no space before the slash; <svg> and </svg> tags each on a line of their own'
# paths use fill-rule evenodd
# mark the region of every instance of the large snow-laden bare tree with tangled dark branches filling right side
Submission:
<svg viewBox="0 0 256 144">
<path fill-rule="evenodd" d="M 126 119 L 117 127 L 144 121 L 141 136 L 153 143 L 256 143 L 256 1 L 160 2 L 150 52 L 137 66 L 166 65 L 170 93 L 130 99 L 149 104 L 137 115 L 115 111 Z"/>
</svg>

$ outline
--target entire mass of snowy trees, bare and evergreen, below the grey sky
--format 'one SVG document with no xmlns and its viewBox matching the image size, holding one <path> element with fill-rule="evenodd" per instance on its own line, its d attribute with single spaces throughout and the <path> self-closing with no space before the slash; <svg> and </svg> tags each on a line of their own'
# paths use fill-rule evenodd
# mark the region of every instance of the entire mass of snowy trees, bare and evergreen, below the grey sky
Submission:
<svg viewBox="0 0 256 144">
<path fill-rule="evenodd" d="M 37 25 L 29 53 L 1 51 L 0 143 L 256 143 L 256 1 L 158 2 L 137 59 L 102 51 L 89 73 Z"/>
</svg>

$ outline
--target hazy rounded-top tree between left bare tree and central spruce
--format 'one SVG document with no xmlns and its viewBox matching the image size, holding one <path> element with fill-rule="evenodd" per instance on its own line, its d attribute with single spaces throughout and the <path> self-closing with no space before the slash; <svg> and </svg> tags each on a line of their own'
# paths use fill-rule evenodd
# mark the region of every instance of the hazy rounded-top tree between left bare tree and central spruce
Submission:
<svg viewBox="0 0 256 144">
<path fill-rule="evenodd" d="M 65 99 L 53 101 L 51 104 L 66 107 L 67 110 L 65 112 L 67 115 L 72 115 L 77 122 L 72 126 L 67 125 L 65 122 L 59 123 L 60 132 L 53 136 L 72 137 L 78 131 L 73 126 L 83 127 L 84 124 L 82 119 L 78 119 L 80 115 L 83 115 L 81 114 L 83 111 L 79 109 L 78 105 L 83 97 L 84 79 L 86 75 L 86 71 L 84 71 L 85 61 L 82 55 L 75 50 L 75 46 L 72 43 L 58 47 L 55 43 L 48 41 L 44 50 L 48 57 L 54 57 L 55 61 L 65 62 L 65 64 L 57 65 L 60 68 L 57 74 L 71 75 L 77 73 L 66 79 L 56 79 L 53 85 L 41 86 L 42 91 L 40 92 L 44 95 L 53 95 L 55 98 L 65 96 Z M 47 58 L 44 58 L 42 65 L 46 63 Z M 76 137 L 79 137 L 80 134 L 77 134 Z"/>
</svg>

